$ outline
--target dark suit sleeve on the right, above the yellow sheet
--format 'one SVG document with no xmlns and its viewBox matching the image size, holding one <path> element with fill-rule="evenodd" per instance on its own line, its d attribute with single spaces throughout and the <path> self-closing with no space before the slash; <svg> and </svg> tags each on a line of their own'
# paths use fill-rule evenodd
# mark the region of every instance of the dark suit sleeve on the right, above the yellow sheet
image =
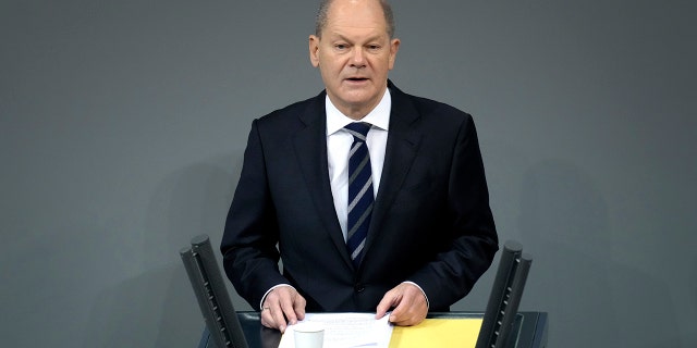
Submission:
<svg viewBox="0 0 697 348">
<path fill-rule="evenodd" d="M 461 124 L 448 178 L 447 224 L 450 243 L 409 281 L 421 286 L 431 310 L 442 310 L 472 290 L 488 270 L 499 239 L 472 116 Z"/>
</svg>

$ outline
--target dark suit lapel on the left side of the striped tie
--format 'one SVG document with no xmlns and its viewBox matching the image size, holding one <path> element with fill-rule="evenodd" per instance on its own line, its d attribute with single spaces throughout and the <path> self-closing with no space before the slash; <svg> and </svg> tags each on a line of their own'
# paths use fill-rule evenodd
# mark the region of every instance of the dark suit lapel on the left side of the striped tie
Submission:
<svg viewBox="0 0 697 348">
<path fill-rule="evenodd" d="M 327 163 L 327 115 L 325 96 L 317 96 L 305 112 L 299 115 L 305 127 L 294 137 L 294 147 L 305 183 L 313 198 L 317 216 L 321 219 L 342 259 L 348 266 L 351 257 L 346 249 L 329 183 L 329 164 Z"/>
</svg>

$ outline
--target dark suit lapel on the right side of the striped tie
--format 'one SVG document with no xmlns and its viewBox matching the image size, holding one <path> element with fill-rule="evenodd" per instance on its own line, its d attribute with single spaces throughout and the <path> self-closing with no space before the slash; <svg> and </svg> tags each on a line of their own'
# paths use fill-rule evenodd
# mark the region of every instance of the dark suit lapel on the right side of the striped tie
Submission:
<svg viewBox="0 0 697 348">
<path fill-rule="evenodd" d="M 374 203 L 366 239 L 366 253 L 368 253 L 377 235 L 383 233 L 384 216 L 412 167 L 423 136 L 421 130 L 416 126 L 419 114 L 412 101 L 391 83 L 389 87 L 392 96 L 390 129 L 380 188 Z"/>
</svg>

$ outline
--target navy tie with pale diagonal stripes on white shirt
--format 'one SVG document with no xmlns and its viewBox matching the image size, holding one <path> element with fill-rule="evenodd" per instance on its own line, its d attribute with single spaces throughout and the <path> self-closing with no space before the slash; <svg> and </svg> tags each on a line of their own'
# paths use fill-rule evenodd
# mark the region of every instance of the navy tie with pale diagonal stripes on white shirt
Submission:
<svg viewBox="0 0 697 348">
<path fill-rule="evenodd" d="M 370 153 L 366 145 L 366 136 L 370 124 L 354 122 L 344 127 L 353 135 L 353 145 L 348 152 L 348 221 L 346 246 L 351 260 L 357 269 L 363 257 L 363 248 L 368 235 L 368 225 L 372 213 L 372 175 Z"/>
</svg>

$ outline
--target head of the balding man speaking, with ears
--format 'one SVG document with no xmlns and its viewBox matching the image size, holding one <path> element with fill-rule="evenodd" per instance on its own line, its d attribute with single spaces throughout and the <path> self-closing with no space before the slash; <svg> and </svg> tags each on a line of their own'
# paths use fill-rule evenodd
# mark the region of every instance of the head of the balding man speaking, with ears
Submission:
<svg viewBox="0 0 697 348">
<path fill-rule="evenodd" d="M 380 102 L 399 46 L 378 1 L 334 0 L 321 38 L 309 37 L 309 55 L 332 103 L 359 120 Z"/>
</svg>

